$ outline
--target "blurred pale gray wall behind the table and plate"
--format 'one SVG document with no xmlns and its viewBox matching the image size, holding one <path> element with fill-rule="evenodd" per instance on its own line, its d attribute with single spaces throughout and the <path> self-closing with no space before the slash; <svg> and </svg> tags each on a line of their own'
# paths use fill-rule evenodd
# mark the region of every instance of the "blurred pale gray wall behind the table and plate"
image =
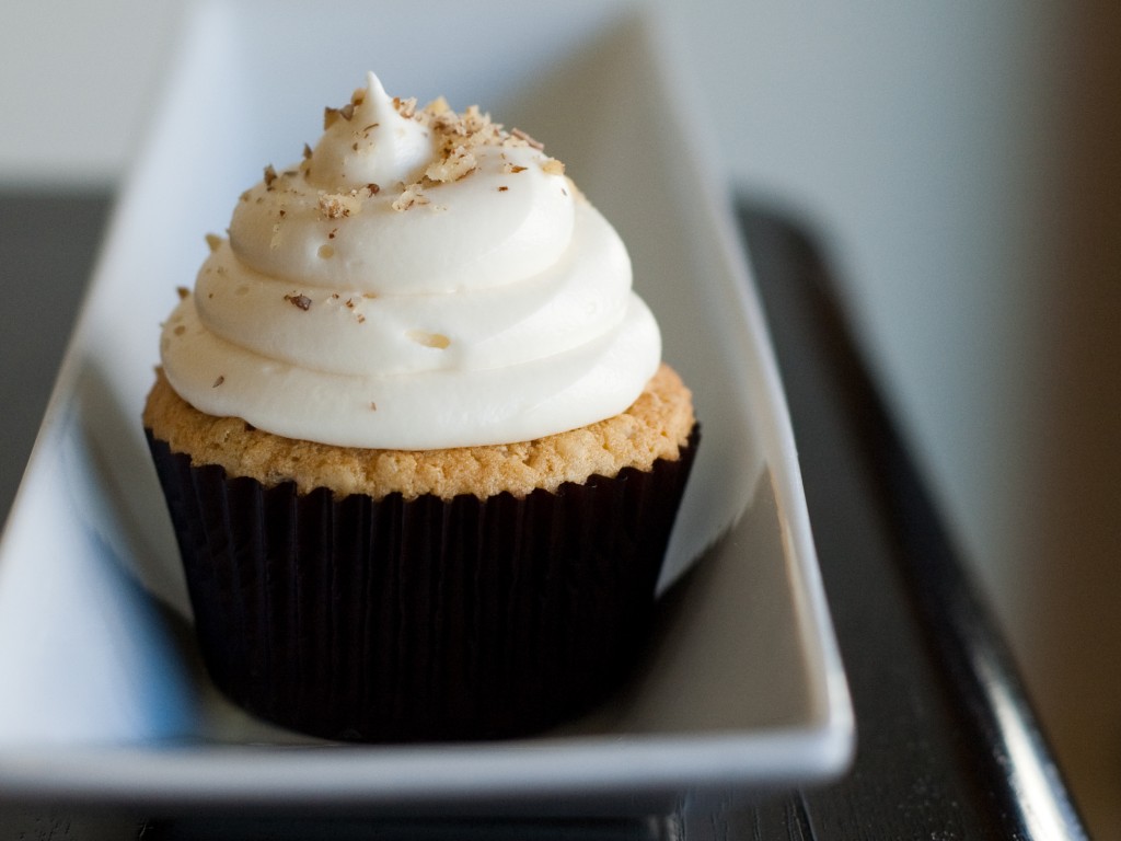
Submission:
<svg viewBox="0 0 1121 841">
<path fill-rule="evenodd" d="M 1121 825 L 1117 3 L 658 1 L 732 183 L 824 234 L 1080 796 Z M 180 12 L 6 3 L 0 185 L 114 183 Z"/>
</svg>

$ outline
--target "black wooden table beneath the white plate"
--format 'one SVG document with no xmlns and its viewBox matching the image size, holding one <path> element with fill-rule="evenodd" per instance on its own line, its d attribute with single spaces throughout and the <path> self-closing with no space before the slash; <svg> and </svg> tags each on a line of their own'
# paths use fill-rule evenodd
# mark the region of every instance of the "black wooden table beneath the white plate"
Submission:
<svg viewBox="0 0 1121 841">
<path fill-rule="evenodd" d="M 110 196 L 0 193 L 7 515 Z M 828 786 L 649 821 L 406 821 L 0 810 L 0 839 L 1076 839 L 1085 833 L 1003 640 L 932 505 L 806 230 L 739 207 L 786 386 L 856 712 Z M 36 834 L 37 833 L 37 834 Z"/>
</svg>

